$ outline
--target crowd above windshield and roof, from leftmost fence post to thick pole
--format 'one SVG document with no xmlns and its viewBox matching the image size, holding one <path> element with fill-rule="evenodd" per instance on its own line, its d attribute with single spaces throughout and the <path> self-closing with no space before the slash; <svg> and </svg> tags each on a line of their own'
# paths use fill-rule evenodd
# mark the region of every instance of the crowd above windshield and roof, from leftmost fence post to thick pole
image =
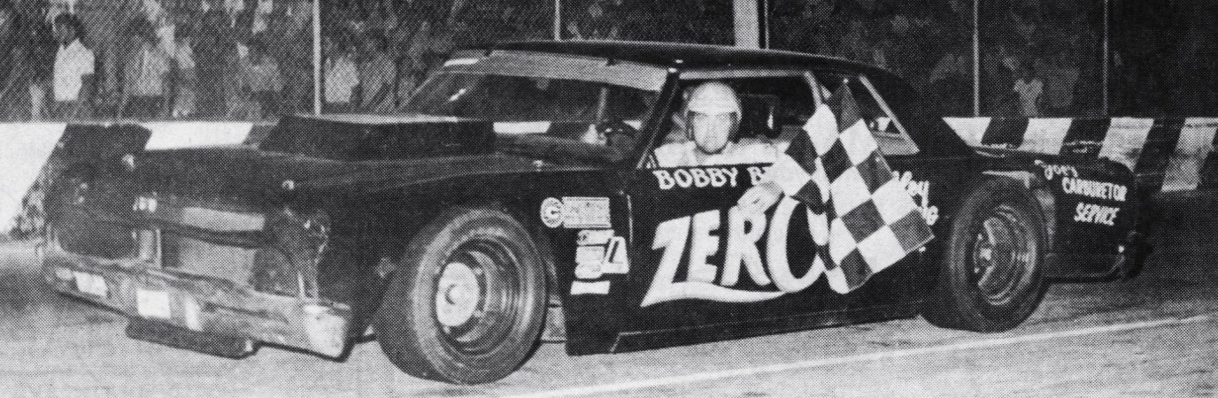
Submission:
<svg viewBox="0 0 1218 398">
<path fill-rule="evenodd" d="M 330 1 L 323 18 L 328 112 L 386 112 L 456 47 L 553 39 L 554 1 Z M 563 0 L 564 40 L 733 41 L 731 0 Z"/>
</svg>

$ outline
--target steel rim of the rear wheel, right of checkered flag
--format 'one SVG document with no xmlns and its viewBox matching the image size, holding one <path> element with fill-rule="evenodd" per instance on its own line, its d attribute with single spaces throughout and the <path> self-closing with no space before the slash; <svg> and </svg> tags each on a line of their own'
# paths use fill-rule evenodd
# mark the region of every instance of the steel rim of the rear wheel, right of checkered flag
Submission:
<svg viewBox="0 0 1218 398">
<path fill-rule="evenodd" d="M 971 281 L 993 305 L 1015 299 L 1035 267 L 1032 229 L 1009 204 L 995 207 L 973 235 Z"/>
</svg>

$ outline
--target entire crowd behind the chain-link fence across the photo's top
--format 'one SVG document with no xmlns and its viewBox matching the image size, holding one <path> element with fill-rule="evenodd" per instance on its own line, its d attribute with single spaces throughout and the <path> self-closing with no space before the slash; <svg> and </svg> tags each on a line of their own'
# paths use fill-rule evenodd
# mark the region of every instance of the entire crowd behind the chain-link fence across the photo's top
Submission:
<svg viewBox="0 0 1218 398">
<path fill-rule="evenodd" d="M 1113 9 L 1107 86 L 1105 1 Z M 1209 39 L 1218 5 L 1207 0 L 1011 0 L 976 10 L 974 0 L 762 4 L 771 47 L 879 65 L 948 116 L 972 116 L 974 100 L 982 116 L 1218 113 L 1218 45 Z M 312 112 L 312 7 L 309 0 L 0 0 L 0 120 Z M 393 112 L 451 51 L 474 44 L 734 41 L 733 0 L 322 0 L 320 7 L 324 112 Z"/>
</svg>

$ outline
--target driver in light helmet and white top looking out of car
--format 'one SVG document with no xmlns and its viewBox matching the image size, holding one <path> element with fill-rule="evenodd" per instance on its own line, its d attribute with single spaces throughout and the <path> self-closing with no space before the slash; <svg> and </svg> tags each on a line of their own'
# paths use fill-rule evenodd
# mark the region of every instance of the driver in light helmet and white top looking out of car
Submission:
<svg viewBox="0 0 1218 398">
<path fill-rule="evenodd" d="M 733 140 L 741 128 L 741 100 L 727 84 L 708 82 L 695 86 L 686 101 L 686 141 L 655 148 L 658 167 L 773 163 L 777 150 L 766 140 Z"/>
</svg>

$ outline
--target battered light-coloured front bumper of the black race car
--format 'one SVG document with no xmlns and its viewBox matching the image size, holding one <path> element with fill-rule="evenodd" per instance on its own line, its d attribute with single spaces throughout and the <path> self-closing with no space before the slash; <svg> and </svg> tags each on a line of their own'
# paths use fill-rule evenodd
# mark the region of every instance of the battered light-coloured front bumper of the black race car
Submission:
<svg viewBox="0 0 1218 398">
<path fill-rule="evenodd" d="M 346 304 L 263 293 L 147 260 L 80 256 L 63 251 L 54 240 L 43 250 L 43 276 L 55 291 L 128 316 L 331 358 L 342 355 L 352 324 Z"/>
</svg>

